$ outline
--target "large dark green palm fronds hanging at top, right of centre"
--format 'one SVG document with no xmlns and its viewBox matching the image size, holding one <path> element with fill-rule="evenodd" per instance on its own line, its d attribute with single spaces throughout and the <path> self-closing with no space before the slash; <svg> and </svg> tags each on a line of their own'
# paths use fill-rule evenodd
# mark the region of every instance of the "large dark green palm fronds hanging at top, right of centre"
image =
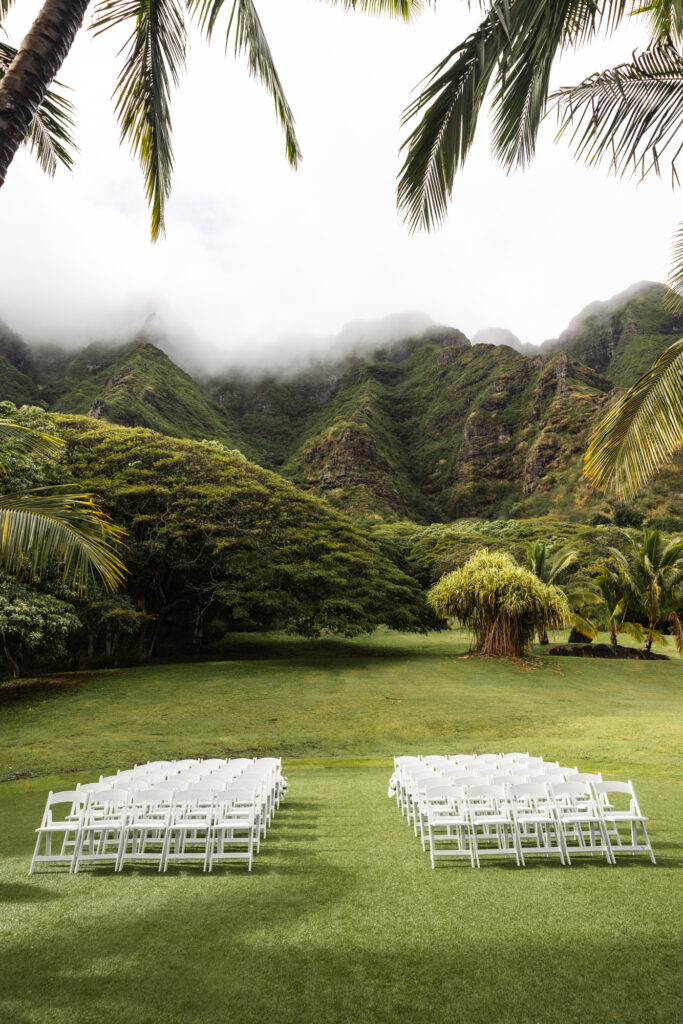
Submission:
<svg viewBox="0 0 683 1024">
<path fill-rule="evenodd" d="M 489 88 L 497 86 L 494 151 L 507 167 L 523 164 L 533 155 L 554 59 L 600 30 L 613 31 L 630 7 L 630 0 L 493 0 L 403 114 L 403 124 L 420 118 L 401 146 L 397 193 L 412 230 L 445 217 Z"/>
</svg>

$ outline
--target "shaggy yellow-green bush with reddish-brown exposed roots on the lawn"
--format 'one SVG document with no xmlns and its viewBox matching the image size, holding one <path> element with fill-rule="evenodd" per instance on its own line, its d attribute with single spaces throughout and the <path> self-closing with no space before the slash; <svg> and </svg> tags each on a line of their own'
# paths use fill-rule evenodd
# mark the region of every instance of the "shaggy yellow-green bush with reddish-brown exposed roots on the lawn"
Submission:
<svg viewBox="0 0 683 1024">
<path fill-rule="evenodd" d="M 561 590 L 510 555 L 486 549 L 442 577 L 429 591 L 429 602 L 438 615 L 470 630 L 481 654 L 495 656 L 521 657 L 537 631 L 561 629 L 569 621 Z"/>
</svg>

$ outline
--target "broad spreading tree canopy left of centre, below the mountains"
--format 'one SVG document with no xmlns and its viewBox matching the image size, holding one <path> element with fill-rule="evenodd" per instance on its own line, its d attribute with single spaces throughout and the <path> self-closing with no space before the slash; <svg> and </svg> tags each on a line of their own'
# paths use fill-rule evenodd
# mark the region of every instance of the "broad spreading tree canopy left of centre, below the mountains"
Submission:
<svg viewBox="0 0 683 1024">
<path fill-rule="evenodd" d="M 63 419 L 74 474 L 129 530 L 127 593 L 160 630 L 212 617 L 313 635 L 432 624 L 419 586 L 343 515 L 215 443 Z"/>
</svg>

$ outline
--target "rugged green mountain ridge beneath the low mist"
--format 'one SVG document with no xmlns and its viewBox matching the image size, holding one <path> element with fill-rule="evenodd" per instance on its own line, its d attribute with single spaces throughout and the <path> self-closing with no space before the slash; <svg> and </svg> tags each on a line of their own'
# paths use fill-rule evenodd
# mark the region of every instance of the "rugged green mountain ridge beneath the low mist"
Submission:
<svg viewBox="0 0 683 1024">
<path fill-rule="evenodd" d="M 240 449 L 354 515 L 417 522 L 606 508 L 581 476 L 592 427 L 676 337 L 667 289 L 584 310 L 533 354 L 434 326 L 287 376 L 199 380 L 157 345 L 33 349 L 0 326 L 0 397 Z M 678 458 L 639 498 L 676 515 Z"/>
</svg>

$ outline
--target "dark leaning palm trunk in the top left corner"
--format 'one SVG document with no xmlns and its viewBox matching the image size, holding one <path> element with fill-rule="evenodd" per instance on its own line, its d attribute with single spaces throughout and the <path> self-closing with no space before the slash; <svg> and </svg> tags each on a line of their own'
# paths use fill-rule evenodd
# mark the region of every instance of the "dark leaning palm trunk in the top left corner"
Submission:
<svg viewBox="0 0 683 1024">
<path fill-rule="evenodd" d="M 83 25 L 89 0 L 45 0 L 0 80 L 0 186 Z"/>
</svg>

